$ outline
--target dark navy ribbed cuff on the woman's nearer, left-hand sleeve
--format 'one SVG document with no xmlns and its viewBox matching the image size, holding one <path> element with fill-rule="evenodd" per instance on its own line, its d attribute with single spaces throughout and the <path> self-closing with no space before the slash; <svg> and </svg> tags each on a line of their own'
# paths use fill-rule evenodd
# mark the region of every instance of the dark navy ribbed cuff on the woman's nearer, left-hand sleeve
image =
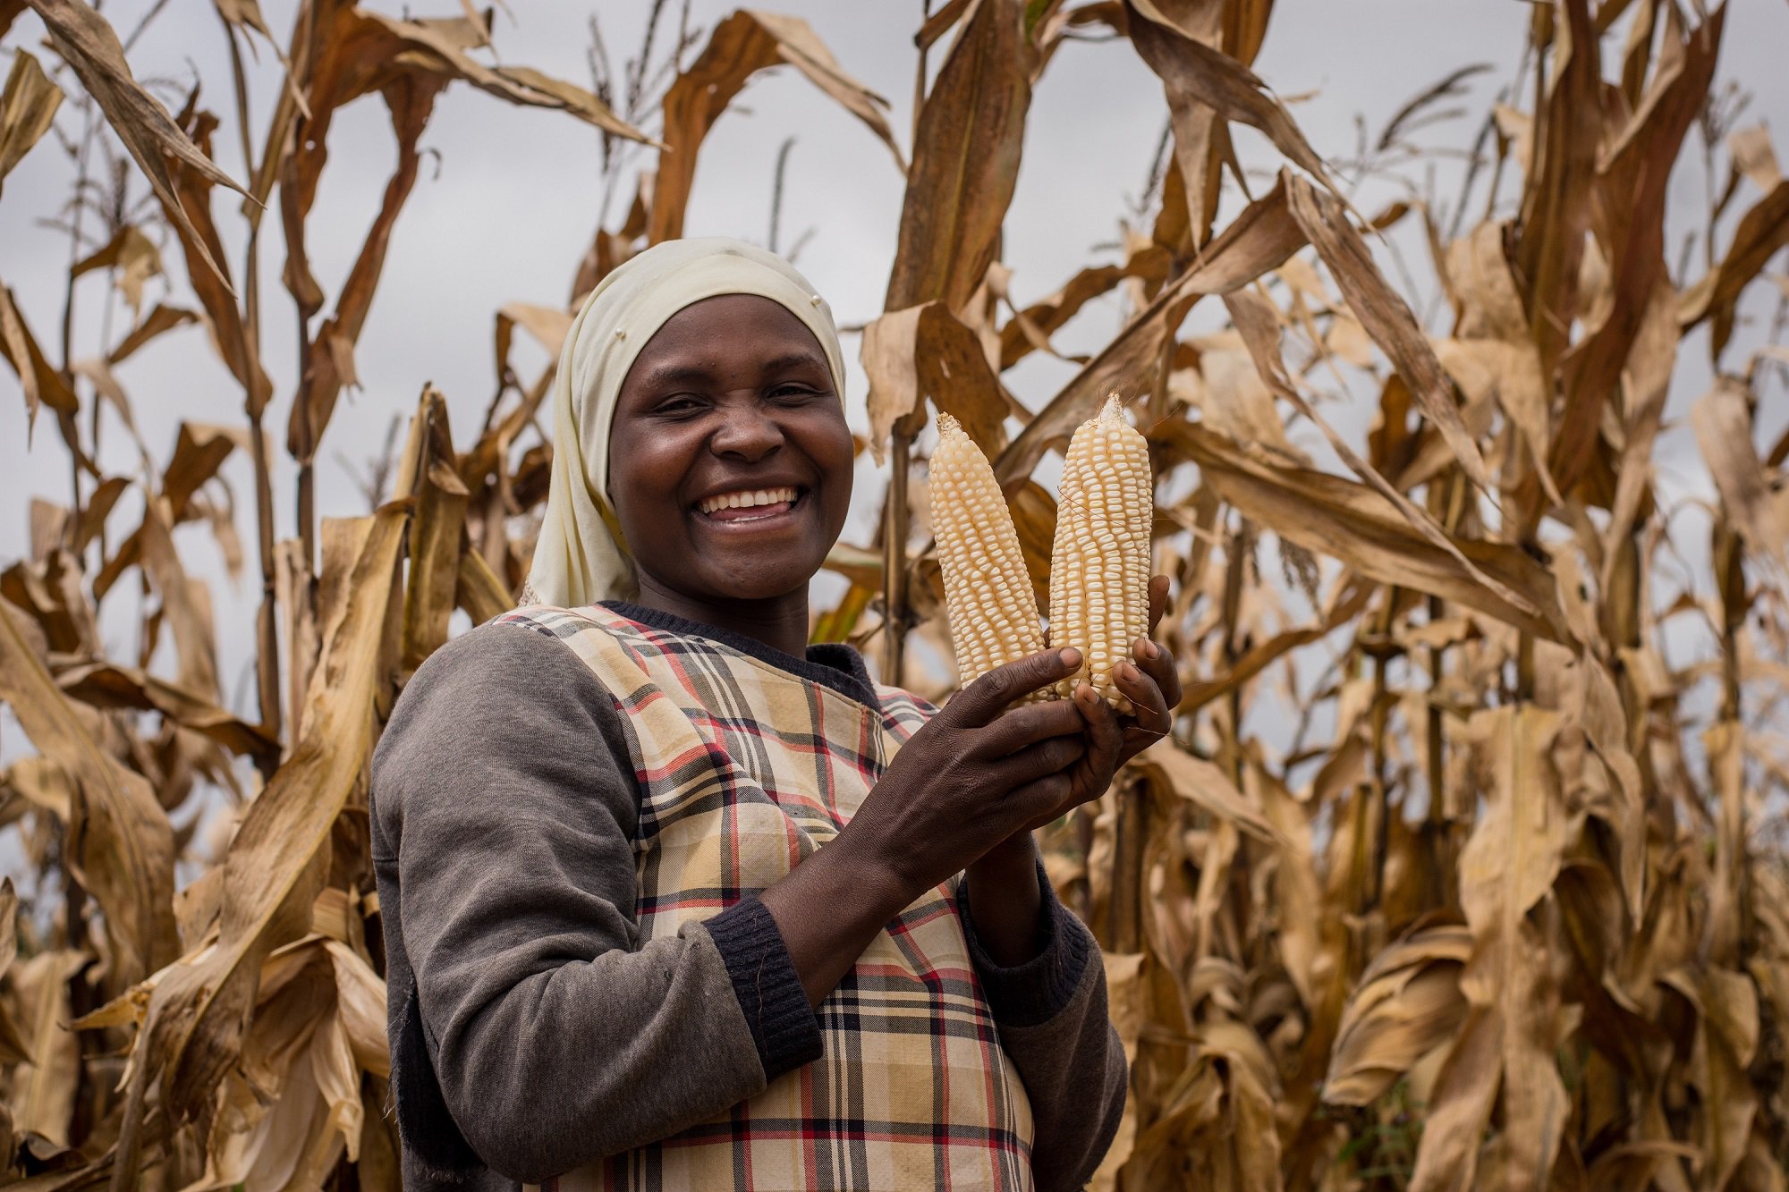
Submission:
<svg viewBox="0 0 1789 1192">
<path fill-rule="evenodd" d="M 801 974 L 789 959 L 776 920 L 757 898 L 742 898 L 707 920 L 726 979 L 733 983 L 733 997 L 751 1027 L 764 1079 L 773 1081 L 791 1069 L 819 1060 L 825 1051 L 819 1038 L 819 1018 L 807 1004 Z"/>
</svg>

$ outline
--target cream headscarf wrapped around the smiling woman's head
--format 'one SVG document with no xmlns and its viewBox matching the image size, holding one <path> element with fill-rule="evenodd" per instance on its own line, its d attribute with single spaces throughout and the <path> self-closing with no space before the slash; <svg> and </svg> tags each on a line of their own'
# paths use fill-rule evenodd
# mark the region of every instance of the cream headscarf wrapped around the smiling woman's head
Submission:
<svg viewBox="0 0 1789 1192">
<path fill-rule="evenodd" d="M 785 306 L 827 353 L 844 399 L 839 333 L 827 306 L 789 261 L 725 236 L 667 240 L 596 285 L 565 335 L 553 378 L 553 485 L 522 585 L 524 605 L 576 609 L 630 600 L 633 560 L 608 503 L 608 428 L 621 383 L 671 315 L 721 294 L 757 294 Z"/>
</svg>

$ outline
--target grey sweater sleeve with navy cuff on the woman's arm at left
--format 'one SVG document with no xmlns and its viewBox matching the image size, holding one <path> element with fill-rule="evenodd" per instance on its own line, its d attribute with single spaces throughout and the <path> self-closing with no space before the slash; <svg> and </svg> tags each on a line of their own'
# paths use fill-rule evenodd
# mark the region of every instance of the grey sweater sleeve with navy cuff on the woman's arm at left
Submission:
<svg viewBox="0 0 1789 1192">
<path fill-rule="evenodd" d="M 637 791 L 617 754 L 608 693 L 528 626 L 449 643 L 394 709 L 372 762 L 374 854 L 390 972 L 410 977 L 392 990 L 406 1147 L 469 1149 L 538 1183 L 819 1054 L 759 902 L 640 943 Z M 426 1052 L 408 1065 L 406 1033 Z"/>
</svg>

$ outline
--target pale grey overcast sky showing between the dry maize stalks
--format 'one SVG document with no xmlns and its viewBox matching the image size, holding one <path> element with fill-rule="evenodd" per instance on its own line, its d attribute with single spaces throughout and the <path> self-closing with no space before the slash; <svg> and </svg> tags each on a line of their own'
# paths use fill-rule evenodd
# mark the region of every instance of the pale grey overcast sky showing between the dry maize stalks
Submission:
<svg viewBox="0 0 1789 1192">
<path fill-rule="evenodd" d="M 114 0 L 104 11 L 116 27 L 129 30 L 148 7 L 147 0 Z M 399 4 L 381 2 L 372 7 L 404 11 Z M 456 13 L 449 0 L 408 7 L 411 16 Z M 667 7 L 674 13 L 676 2 Z M 905 150 L 912 123 L 912 32 L 920 4 L 769 0 L 767 7 L 805 16 L 843 68 L 891 102 L 891 123 Z M 1789 145 L 1780 134 L 1789 127 L 1789 72 L 1782 70 L 1789 50 L 1789 4 L 1730 0 L 1730 7 L 1719 81 L 1739 81 L 1755 91 L 1742 123 L 1769 120 L 1776 131 L 1778 154 L 1789 159 Z M 267 0 L 263 9 L 284 39 L 292 5 Z M 517 14 L 515 20 L 501 11 L 497 14 L 496 48 L 501 61 L 589 84 L 587 20 L 594 5 L 510 0 L 510 9 Z M 648 9 L 644 0 L 599 5 L 603 36 L 617 68 L 639 47 Z M 732 5 L 696 0 L 692 23 L 707 30 L 728 11 Z M 1317 150 L 1338 159 L 1354 152 L 1356 118 L 1363 118 L 1378 132 L 1406 98 L 1435 79 L 1456 66 L 1488 63 L 1492 70 L 1474 77 L 1467 93 L 1451 104 L 1465 115 L 1419 138 L 1431 145 L 1463 147 L 1497 89 L 1515 77 L 1530 11 L 1531 5 L 1521 0 L 1279 0 L 1256 70 L 1292 104 Z M 55 59 L 38 47 L 39 41 L 41 27 L 27 14 L 14 25 L 0 57 L 9 59 L 13 48 L 29 47 L 50 68 Z M 1605 43 L 1607 54 L 1619 54 L 1619 48 L 1617 36 Z M 934 48 L 934 68 L 941 55 L 943 47 Z M 243 177 L 231 107 L 229 59 L 213 5 L 202 0 L 168 4 L 132 48 L 131 61 L 140 77 L 181 84 L 190 84 L 195 73 L 204 79 L 202 102 L 224 118 L 216 136 L 220 163 L 233 175 Z M 0 61 L 0 68 L 5 64 L 9 63 Z M 258 145 L 259 129 L 276 98 L 276 82 L 272 57 L 263 47 L 250 81 Z M 1163 120 L 1159 82 L 1129 43 L 1063 47 L 1032 100 L 1018 193 L 1005 222 L 1005 263 L 1014 270 L 1016 299 L 1045 295 L 1082 265 L 1118 258 L 1118 220 L 1145 186 Z M 64 107 L 61 122 L 64 129 L 79 131 L 72 106 Z M 902 177 L 884 145 L 793 70 L 757 77 L 716 125 L 701 150 L 685 231 L 733 234 L 764 243 L 773 165 L 787 136 L 794 136 L 796 145 L 784 195 L 782 245 L 787 249 L 798 236 L 810 233 L 798 258 L 800 268 L 830 299 L 841 326 L 861 324 L 880 311 L 894 251 Z M 1252 132 L 1243 131 L 1238 140 L 1252 170 L 1277 168 L 1272 149 Z M 431 158 L 397 224 L 385 279 L 361 336 L 356 363 L 363 388 L 343 397 L 320 453 L 318 512 L 324 515 L 365 512 L 363 498 L 336 456 L 343 455 L 358 464 L 372 455 L 392 417 L 408 417 L 424 381 L 433 381 L 445 392 L 458 444 L 463 447 L 471 442 L 496 387 L 496 308 L 510 301 L 564 304 L 578 258 L 594 229 L 601 170 L 598 141 L 587 125 L 558 113 L 510 107 L 481 91 L 456 86 L 437 104 L 422 143 Z M 308 238 L 313 272 L 333 294 L 360 247 L 392 166 L 392 136 L 383 104 L 365 98 L 342 111 L 331 131 L 329 150 Z M 1705 181 L 1696 158 L 1696 152 L 1685 152 L 1685 165 L 1673 179 L 1673 208 L 1680 229 L 1700 224 L 1703 211 Z M 1446 161 L 1438 165 L 1440 197 L 1453 197 L 1456 170 L 1456 165 Z M 27 320 L 47 345 L 54 345 L 57 338 L 68 242 L 38 226 L 38 220 L 64 200 L 70 177 L 66 159 L 47 140 L 5 179 L 5 193 L 0 197 L 0 279 L 13 286 Z M 1422 175 L 1415 172 L 1413 177 L 1420 181 Z M 619 220 L 630 195 L 632 184 L 623 186 L 612 224 Z M 1505 195 L 1513 197 L 1515 190 L 1506 186 Z M 1397 197 L 1395 186 L 1369 183 L 1360 190 L 1356 204 L 1370 211 L 1390 197 Z M 1750 206 L 1755 199 L 1746 190 L 1739 206 Z M 1236 206 L 1238 197 L 1227 195 L 1225 218 Z M 216 211 L 229 258 L 240 268 L 242 220 L 222 192 Z M 1728 222 L 1728 229 L 1730 226 Z M 283 444 L 295 360 L 292 304 L 279 286 L 283 245 L 277 218 L 267 220 L 263 231 L 263 336 L 267 367 L 276 381 L 268 426 Z M 1420 252 L 1412 254 L 1417 283 L 1426 286 Z M 175 274 L 177 256 L 170 252 Z M 1381 260 L 1390 268 L 1392 261 L 1383 249 Z M 98 276 L 84 283 L 82 301 L 77 304 L 77 356 L 97 349 L 102 285 Z M 1769 310 L 1759 290 L 1762 286 L 1753 290 L 1746 310 Z M 1415 297 L 1426 299 L 1428 294 L 1419 292 Z M 177 285 L 170 301 L 190 304 L 184 286 Z M 1218 315 L 1200 308 L 1195 324 Z M 1123 306 L 1116 295 L 1098 301 L 1059 336 L 1059 345 L 1097 345 L 1109 338 L 1122 317 Z M 138 426 L 163 460 L 181 419 L 242 422 L 240 392 L 200 336 L 202 331 L 195 328 L 175 331 L 120 369 Z M 857 338 L 846 336 L 844 347 L 853 370 L 850 401 L 861 424 L 866 385 L 857 369 Z M 1689 401 L 1707 387 L 1705 338 L 1687 340 L 1683 358 L 1673 394 L 1673 417 L 1680 417 Z M 540 360 L 538 353 L 517 353 L 517 362 L 526 365 L 524 372 L 531 372 Z M 1032 356 L 1009 374 L 1009 383 L 1023 401 L 1038 406 L 1070 372 L 1061 362 Z M 1782 401 L 1780 388 L 1773 390 L 1773 399 L 1789 404 Z M 1365 403 L 1336 413 L 1338 422 L 1356 430 L 1369 417 Z M 1780 424 L 1780 415 L 1773 417 Z M 1311 442 L 1310 437 L 1299 440 Z M 1678 492 L 1710 490 L 1687 428 L 1667 435 L 1662 456 Z M 129 471 L 132 458 L 127 440 L 109 424 L 102 453 L 107 471 Z M 250 542 L 252 558 L 252 474 L 247 458 L 233 460 L 225 476 L 238 494 L 238 523 Z M 290 460 L 276 473 L 277 524 L 283 535 L 293 526 L 293 476 Z M 871 507 L 878 489 L 880 485 L 861 485 L 859 505 Z M 48 417 L 38 421 L 34 447 L 27 451 L 18 383 L 11 372 L 0 370 L 0 566 L 29 549 L 27 505 L 32 496 L 66 503 L 66 451 Z M 114 524 L 129 524 L 129 507 L 120 508 Z M 252 651 L 252 609 L 258 598 L 254 576 L 245 575 L 243 583 L 231 589 L 222 580 L 218 553 L 206 530 L 186 526 L 177 537 L 188 567 L 216 580 L 213 598 L 225 700 L 236 711 L 252 714 L 252 684 L 243 680 Z M 129 587 L 132 585 L 120 585 L 111 598 L 122 609 L 113 609 L 107 617 L 107 646 L 122 657 L 136 650 L 131 628 L 134 596 L 125 591 Z M 13 730 L 7 725 L 7 734 Z M 11 741 L 0 739 L 0 748 L 9 754 L 13 746 L 16 736 Z"/>
</svg>

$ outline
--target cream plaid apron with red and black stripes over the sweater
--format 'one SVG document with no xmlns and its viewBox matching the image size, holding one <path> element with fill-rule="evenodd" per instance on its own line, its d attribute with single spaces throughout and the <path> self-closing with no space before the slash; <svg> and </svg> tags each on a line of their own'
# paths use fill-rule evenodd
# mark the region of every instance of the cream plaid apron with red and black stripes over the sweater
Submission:
<svg viewBox="0 0 1789 1192">
<path fill-rule="evenodd" d="M 866 707 L 599 605 L 504 619 L 564 641 L 615 698 L 640 789 L 640 943 L 721 913 L 823 847 L 932 711 L 893 687 Z M 877 934 L 821 1002 L 819 1026 L 821 1060 L 544 1192 L 1032 1187 L 1030 1103 L 975 977 L 955 881 Z"/>
</svg>

